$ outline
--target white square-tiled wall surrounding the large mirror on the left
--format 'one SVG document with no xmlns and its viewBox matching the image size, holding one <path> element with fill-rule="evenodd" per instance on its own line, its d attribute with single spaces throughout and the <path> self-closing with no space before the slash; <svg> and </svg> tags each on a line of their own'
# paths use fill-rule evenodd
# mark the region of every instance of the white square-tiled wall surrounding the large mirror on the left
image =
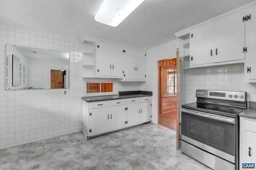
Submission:
<svg viewBox="0 0 256 170">
<path fill-rule="evenodd" d="M 5 90 L 5 45 L 70 53 L 70 88 Z M 82 129 L 82 48 L 78 39 L 0 24 L 0 149 Z"/>
</svg>

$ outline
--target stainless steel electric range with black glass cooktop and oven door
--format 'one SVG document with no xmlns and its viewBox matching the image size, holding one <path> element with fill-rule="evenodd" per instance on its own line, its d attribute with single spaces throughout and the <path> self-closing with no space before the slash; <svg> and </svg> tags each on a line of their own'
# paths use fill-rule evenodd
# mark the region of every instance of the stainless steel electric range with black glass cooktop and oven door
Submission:
<svg viewBox="0 0 256 170">
<path fill-rule="evenodd" d="M 215 170 L 239 168 L 239 113 L 246 92 L 196 90 L 196 102 L 182 105 L 181 151 Z"/>
</svg>

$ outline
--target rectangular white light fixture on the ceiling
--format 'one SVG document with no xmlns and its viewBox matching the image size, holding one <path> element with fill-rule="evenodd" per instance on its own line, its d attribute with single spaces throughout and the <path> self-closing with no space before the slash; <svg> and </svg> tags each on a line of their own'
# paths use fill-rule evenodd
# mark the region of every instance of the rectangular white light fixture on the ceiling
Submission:
<svg viewBox="0 0 256 170">
<path fill-rule="evenodd" d="M 144 0 L 104 0 L 94 19 L 116 27 Z"/>
</svg>

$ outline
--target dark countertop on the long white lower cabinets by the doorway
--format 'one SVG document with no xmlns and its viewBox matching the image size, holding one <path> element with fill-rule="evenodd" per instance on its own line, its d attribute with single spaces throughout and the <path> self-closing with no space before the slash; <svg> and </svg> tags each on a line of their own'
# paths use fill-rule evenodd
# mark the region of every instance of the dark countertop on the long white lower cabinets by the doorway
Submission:
<svg viewBox="0 0 256 170">
<path fill-rule="evenodd" d="M 119 95 L 82 97 L 82 100 L 84 100 L 85 102 L 99 102 L 104 100 L 118 100 L 118 99 L 139 98 L 139 97 L 146 97 L 146 96 L 152 96 L 152 92 L 145 92 L 145 91 L 119 92 Z"/>
</svg>

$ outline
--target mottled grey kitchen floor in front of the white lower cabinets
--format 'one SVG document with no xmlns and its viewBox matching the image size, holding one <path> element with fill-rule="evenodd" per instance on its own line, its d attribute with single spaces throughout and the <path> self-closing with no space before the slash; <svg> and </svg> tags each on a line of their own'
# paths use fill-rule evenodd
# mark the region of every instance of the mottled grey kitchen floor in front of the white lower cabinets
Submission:
<svg viewBox="0 0 256 170">
<path fill-rule="evenodd" d="M 146 123 L 92 139 L 82 132 L 0 150 L 0 170 L 208 170 L 176 150 L 176 132 Z"/>
</svg>

